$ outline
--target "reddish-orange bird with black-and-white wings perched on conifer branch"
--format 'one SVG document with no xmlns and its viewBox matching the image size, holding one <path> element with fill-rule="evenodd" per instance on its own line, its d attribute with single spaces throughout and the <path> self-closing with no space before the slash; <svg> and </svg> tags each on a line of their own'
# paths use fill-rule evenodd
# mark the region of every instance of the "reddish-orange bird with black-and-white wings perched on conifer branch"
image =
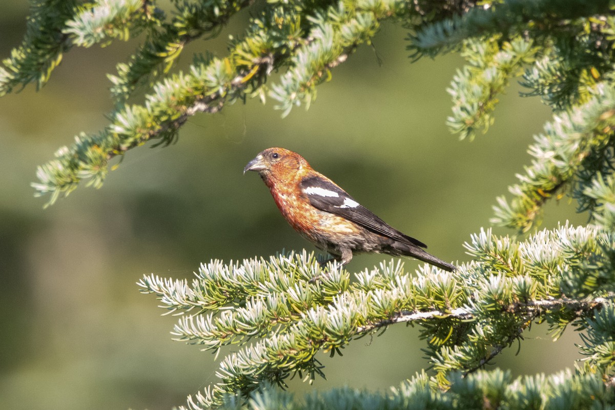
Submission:
<svg viewBox="0 0 615 410">
<path fill-rule="evenodd" d="M 448 272 L 456 269 L 427 253 L 423 242 L 391 227 L 360 205 L 296 152 L 265 149 L 248 162 L 244 175 L 247 171 L 259 173 L 295 231 L 343 266 L 355 253 L 385 253 L 410 256 Z"/>
</svg>

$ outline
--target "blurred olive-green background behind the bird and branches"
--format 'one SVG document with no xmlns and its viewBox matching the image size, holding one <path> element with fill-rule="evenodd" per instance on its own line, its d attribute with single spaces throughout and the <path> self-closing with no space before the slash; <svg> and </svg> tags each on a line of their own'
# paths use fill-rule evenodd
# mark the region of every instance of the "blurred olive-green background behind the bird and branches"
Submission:
<svg viewBox="0 0 615 410">
<path fill-rule="evenodd" d="M 25 33 L 25 2 L 0 3 L 0 56 Z M 189 53 L 225 51 L 237 16 L 215 42 Z M 169 409 L 216 382 L 216 360 L 173 342 L 177 320 L 135 285 L 143 274 L 191 277 L 200 262 L 314 247 L 285 223 L 257 175 L 242 169 L 282 146 L 343 186 L 383 219 L 446 260 L 466 261 L 462 243 L 489 226 L 495 197 L 529 162 L 526 149 L 550 111 L 513 85 L 496 123 L 474 142 L 445 127 L 446 87 L 462 61 L 447 55 L 411 64 L 406 33 L 386 24 L 333 71 L 309 111 L 285 119 L 274 101 L 235 104 L 192 117 L 179 143 L 129 152 L 100 190 L 80 187 L 44 210 L 30 183 L 36 166 L 73 135 L 97 132 L 111 110 L 109 82 L 136 42 L 74 49 L 49 84 L 0 98 L 0 403 L 7 409 Z M 379 63 L 380 62 L 380 63 Z M 550 203 L 543 227 L 584 223 L 566 200 Z M 515 234 L 496 229 L 499 234 Z M 388 257 L 363 255 L 359 271 Z M 418 262 L 408 260 L 407 269 Z M 579 358 L 569 330 L 557 342 L 534 326 L 496 365 L 513 374 L 552 373 Z M 292 380 L 303 392 L 338 385 L 386 389 L 427 365 L 418 330 L 393 326 L 355 341 L 344 357 L 321 355 L 328 381 Z M 223 356 L 221 356 L 223 357 Z"/>
</svg>

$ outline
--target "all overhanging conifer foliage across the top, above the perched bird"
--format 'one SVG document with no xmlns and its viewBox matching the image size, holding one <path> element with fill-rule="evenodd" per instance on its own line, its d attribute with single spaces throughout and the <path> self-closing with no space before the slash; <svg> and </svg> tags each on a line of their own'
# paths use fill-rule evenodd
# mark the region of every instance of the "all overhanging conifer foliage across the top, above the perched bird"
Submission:
<svg viewBox="0 0 615 410">
<path fill-rule="evenodd" d="M 170 70 L 188 42 L 216 36 L 252 1 L 181 1 L 173 6 L 167 17 L 155 2 L 34 3 L 24 45 L 0 73 L 3 93 L 35 79 L 44 84 L 62 53 L 75 45 L 105 45 L 145 34 L 135 54 L 109 75 L 116 100 L 111 124 L 100 133 L 79 135 L 76 144 L 60 149 L 56 159 L 39 168 L 39 182 L 33 186 L 39 195 L 51 195 L 48 203 L 69 194 L 82 179 L 91 178 L 90 184 L 100 187 L 113 157 L 149 140 L 172 143 L 197 112 L 218 112 L 225 104 L 255 96 L 264 100 L 267 94 L 284 115 L 293 106 L 309 106 L 316 85 L 328 81 L 331 69 L 357 46 L 370 43 L 385 19 L 408 27 L 413 58 L 461 50 L 467 65 L 449 89 L 454 105 L 447 120 L 461 138 L 487 130 L 498 95 L 521 75 L 526 95 L 540 95 L 560 111 L 546 125 L 546 135 L 537 137 L 531 149 L 534 163 L 520 176 L 521 183 L 510 188 L 514 198 L 499 199 L 496 223 L 527 231 L 546 199 L 574 186 L 585 167 L 601 166 L 584 159 L 588 149 L 608 145 L 601 135 L 608 135 L 611 127 L 615 30 L 607 1 L 271 1 L 253 13 L 244 35 L 229 45 L 228 57 L 196 56 L 185 73 L 175 74 Z M 284 73 L 276 84 L 267 85 L 277 70 Z M 141 88 L 146 91 L 143 103 L 127 104 Z M 577 146 L 560 144 L 568 138 L 578 140 Z M 554 150 L 557 161 L 548 157 Z M 575 197 L 584 207 L 584 195 Z"/>
</svg>

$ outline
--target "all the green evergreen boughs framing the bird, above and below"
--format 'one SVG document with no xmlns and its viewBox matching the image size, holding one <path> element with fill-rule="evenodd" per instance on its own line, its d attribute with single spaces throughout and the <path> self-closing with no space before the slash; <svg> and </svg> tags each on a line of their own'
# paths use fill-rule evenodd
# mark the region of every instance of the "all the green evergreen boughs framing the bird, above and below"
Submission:
<svg viewBox="0 0 615 410">
<path fill-rule="evenodd" d="M 400 262 L 351 274 L 321 266 L 314 254 L 282 253 L 203 264 L 191 283 L 146 275 L 138 283 L 162 307 L 182 313 L 173 335 L 218 352 L 220 381 L 185 408 L 613 408 L 615 374 L 615 4 L 589 0 L 277 1 L 258 4 L 226 57 L 196 55 L 172 73 L 194 39 L 213 37 L 253 1 L 175 0 L 169 16 L 149 0 L 32 0 L 25 39 L 0 68 L 0 95 L 41 87 L 72 47 L 141 36 L 142 44 L 109 75 L 115 109 L 109 125 L 82 133 L 39 167 L 38 195 L 49 202 L 81 181 L 100 187 L 109 161 L 155 140 L 166 145 L 197 112 L 215 113 L 251 97 L 277 101 L 287 114 L 309 106 L 316 86 L 384 20 L 408 30 L 414 59 L 459 52 L 467 61 L 449 92 L 451 130 L 475 138 L 493 122 L 498 95 L 514 79 L 553 109 L 530 146 L 533 157 L 492 222 L 528 232 L 549 199 L 568 195 L 586 226 L 562 224 L 525 239 L 480 229 L 466 243 L 470 262 L 454 273 Z M 282 73 L 268 84 L 274 72 Z M 129 104 L 145 90 L 140 104 Z M 352 278 L 352 280 L 351 280 Z M 573 371 L 512 379 L 483 366 L 523 338 L 532 323 L 554 337 L 582 330 L 585 355 Z M 388 393 L 343 388 L 295 400 L 289 376 L 323 376 L 315 353 L 331 355 L 395 323 L 414 323 L 433 374 Z"/>
</svg>

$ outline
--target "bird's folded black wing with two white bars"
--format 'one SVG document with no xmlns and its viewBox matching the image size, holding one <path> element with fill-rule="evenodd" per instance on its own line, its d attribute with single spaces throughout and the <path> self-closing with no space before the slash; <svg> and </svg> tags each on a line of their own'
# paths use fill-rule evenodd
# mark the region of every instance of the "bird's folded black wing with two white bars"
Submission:
<svg viewBox="0 0 615 410">
<path fill-rule="evenodd" d="M 376 234 L 427 248 L 427 245 L 423 242 L 389 226 L 372 211 L 352 199 L 346 191 L 322 176 L 304 178 L 301 181 L 301 191 L 307 195 L 312 207 L 346 218 L 372 232 L 376 232 Z"/>
</svg>

